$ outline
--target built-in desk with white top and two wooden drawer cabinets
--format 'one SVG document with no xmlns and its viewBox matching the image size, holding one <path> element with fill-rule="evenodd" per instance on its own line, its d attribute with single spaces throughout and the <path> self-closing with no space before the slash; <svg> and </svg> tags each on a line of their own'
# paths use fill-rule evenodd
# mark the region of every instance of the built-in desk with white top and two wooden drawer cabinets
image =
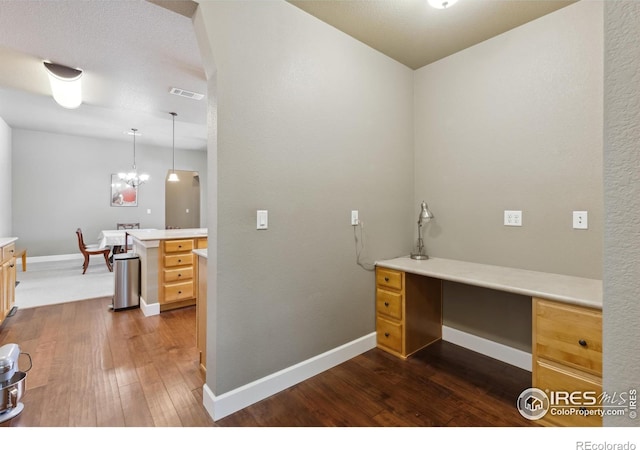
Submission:
<svg viewBox="0 0 640 450">
<path fill-rule="evenodd" d="M 532 387 L 602 391 L 602 281 L 442 258 L 376 262 L 379 348 L 407 358 L 442 338 L 442 281 L 532 299 Z M 598 416 L 545 417 L 555 425 L 598 426 Z"/>
</svg>

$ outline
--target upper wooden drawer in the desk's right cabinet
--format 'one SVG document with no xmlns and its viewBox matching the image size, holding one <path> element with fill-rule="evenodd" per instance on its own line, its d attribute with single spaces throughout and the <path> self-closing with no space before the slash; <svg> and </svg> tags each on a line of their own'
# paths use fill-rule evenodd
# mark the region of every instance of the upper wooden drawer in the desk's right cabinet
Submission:
<svg viewBox="0 0 640 450">
<path fill-rule="evenodd" d="M 557 361 L 602 375 L 602 312 L 535 299 L 535 351 Z"/>
</svg>

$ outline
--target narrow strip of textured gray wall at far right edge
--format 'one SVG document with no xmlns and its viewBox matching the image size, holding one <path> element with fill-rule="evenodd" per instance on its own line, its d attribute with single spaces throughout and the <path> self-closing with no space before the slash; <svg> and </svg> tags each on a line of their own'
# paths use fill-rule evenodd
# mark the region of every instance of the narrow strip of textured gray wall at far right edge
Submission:
<svg viewBox="0 0 640 450">
<path fill-rule="evenodd" d="M 640 388 L 640 3 L 604 11 L 604 390 L 620 393 Z"/>
</svg>

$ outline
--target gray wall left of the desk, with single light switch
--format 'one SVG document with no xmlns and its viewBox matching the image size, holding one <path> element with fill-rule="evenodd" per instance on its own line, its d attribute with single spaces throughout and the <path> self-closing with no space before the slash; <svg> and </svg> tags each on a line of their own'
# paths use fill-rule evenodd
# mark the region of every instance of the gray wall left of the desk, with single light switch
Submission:
<svg viewBox="0 0 640 450">
<path fill-rule="evenodd" d="M 203 60 L 217 64 L 207 385 L 220 395 L 374 331 L 350 211 L 366 259 L 410 251 L 413 73 L 285 2 L 203 2 L 199 14 Z"/>
</svg>

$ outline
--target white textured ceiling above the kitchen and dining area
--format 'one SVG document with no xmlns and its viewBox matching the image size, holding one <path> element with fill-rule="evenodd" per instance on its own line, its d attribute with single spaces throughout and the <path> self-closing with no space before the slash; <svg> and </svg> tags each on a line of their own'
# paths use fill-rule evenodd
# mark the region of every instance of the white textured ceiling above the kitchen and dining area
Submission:
<svg viewBox="0 0 640 450">
<path fill-rule="evenodd" d="M 171 2 L 170 2 L 171 3 Z M 182 2 L 181 2 L 182 3 Z M 187 2 L 193 4 L 192 2 Z M 84 71 L 83 104 L 54 103 L 42 60 Z M 189 17 L 142 1 L 0 1 L 0 117 L 12 128 L 206 148 L 206 77 Z"/>
</svg>

